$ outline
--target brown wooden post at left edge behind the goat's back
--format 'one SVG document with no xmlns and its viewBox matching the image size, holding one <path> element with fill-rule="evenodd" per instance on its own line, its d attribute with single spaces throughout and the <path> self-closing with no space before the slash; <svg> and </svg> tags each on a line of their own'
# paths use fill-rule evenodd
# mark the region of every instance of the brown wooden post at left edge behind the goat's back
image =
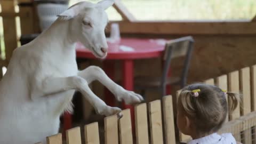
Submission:
<svg viewBox="0 0 256 144">
<path fill-rule="evenodd" d="M 14 11 L 14 1 L 13 0 L 1 0 L 2 12 L 15 13 Z M 12 52 L 17 48 L 17 30 L 15 17 L 3 17 L 4 25 L 4 43 L 5 43 L 5 53 L 6 60 L 9 62 Z"/>
</svg>

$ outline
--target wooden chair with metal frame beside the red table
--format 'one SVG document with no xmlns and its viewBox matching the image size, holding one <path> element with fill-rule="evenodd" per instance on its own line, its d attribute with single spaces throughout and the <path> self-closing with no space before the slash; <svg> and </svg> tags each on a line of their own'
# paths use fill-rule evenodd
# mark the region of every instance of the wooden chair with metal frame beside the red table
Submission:
<svg viewBox="0 0 256 144">
<path fill-rule="evenodd" d="M 187 83 L 189 61 L 193 52 L 194 39 L 191 36 L 181 37 L 166 42 L 164 52 L 164 66 L 162 77 L 140 76 L 135 77 L 135 89 L 145 95 L 146 90 L 158 90 L 162 96 L 166 95 L 166 85 L 179 85 L 181 88 Z M 177 57 L 185 57 L 180 77 L 168 77 L 171 60 Z"/>
</svg>

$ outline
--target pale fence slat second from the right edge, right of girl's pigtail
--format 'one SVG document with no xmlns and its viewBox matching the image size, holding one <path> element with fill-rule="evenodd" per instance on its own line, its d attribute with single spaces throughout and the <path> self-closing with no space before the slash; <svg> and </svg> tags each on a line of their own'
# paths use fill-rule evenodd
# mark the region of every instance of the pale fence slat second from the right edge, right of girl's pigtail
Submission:
<svg viewBox="0 0 256 144">
<path fill-rule="evenodd" d="M 242 92 L 241 115 L 251 113 L 251 87 L 250 87 L 250 68 L 246 67 L 239 71 L 240 74 L 240 90 Z M 245 130 L 243 134 L 243 143 L 252 143 L 252 134 L 250 130 Z"/>
</svg>

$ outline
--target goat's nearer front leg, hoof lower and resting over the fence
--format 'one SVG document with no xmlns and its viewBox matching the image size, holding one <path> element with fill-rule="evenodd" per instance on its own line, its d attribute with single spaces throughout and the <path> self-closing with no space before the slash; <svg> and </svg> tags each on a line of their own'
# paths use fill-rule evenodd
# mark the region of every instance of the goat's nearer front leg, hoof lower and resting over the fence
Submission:
<svg viewBox="0 0 256 144">
<path fill-rule="evenodd" d="M 91 105 L 100 115 L 110 116 L 121 111 L 120 108 L 107 106 L 104 101 L 102 101 L 91 91 L 85 79 L 79 76 L 49 77 L 39 85 L 37 84 L 34 86 L 34 92 L 32 91 L 31 93 L 32 99 L 67 90 L 77 90 L 83 94 L 83 96 L 91 103 Z"/>
</svg>

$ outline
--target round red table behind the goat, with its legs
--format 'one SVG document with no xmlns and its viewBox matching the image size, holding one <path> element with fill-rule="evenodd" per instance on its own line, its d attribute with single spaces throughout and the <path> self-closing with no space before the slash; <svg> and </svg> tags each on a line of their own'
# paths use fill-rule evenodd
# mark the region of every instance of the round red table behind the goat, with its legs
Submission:
<svg viewBox="0 0 256 144">
<path fill-rule="evenodd" d="M 114 60 L 121 60 L 123 75 L 122 86 L 126 90 L 133 91 L 133 60 L 161 57 L 164 51 L 164 45 L 164 39 L 122 38 L 121 41 L 116 43 L 108 42 L 108 55 L 105 60 L 103 60 L 103 69 L 111 79 L 114 79 Z M 77 58 L 97 59 L 89 50 L 85 49 L 84 46 L 79 43 L 76 47 L 76 55 Z M 109 106 L 114 106 L 114 97 L 112 97 L 113 96 L 110 96 L 108 91 L 105 91 L 106 103 Z M 123 105 L 123 108 L 131 109 L 133 119 L 133 107 Z M 66 115 L 66 118 L 68 118 L 70 122 L 65 122 L 65 127 L 69 129 L 71 127 L 71 119 L 68 115 Z"/>
</svg>

